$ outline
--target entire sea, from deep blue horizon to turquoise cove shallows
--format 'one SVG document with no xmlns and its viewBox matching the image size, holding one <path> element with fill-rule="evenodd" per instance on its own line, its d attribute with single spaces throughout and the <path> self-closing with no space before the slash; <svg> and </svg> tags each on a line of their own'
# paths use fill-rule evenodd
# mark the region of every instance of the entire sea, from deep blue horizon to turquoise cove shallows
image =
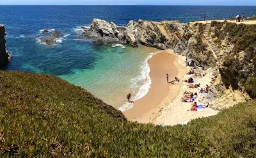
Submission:
<svg viewBox="0 0 256 158">
<path fill-rule="evenodd" d="M 206 19 L 227 19 L 243 12 L 252 17 L 256 6 L 0 6 L 0 12 L 6 48 L 12 53 L 6 70 L 56 75 L 119 107 L 125 104 L 128 92 L 137 99 L 147 93 L 146 59 L 156 50 L 78 40 L 79 27 L 89 26 L 94 18 L 125 26 L 138 19 L 185 23 L 202 20 L 204 15 Z M 60 31 L 58 44 L 38 42 L 42 29 Z"/>
</svg>

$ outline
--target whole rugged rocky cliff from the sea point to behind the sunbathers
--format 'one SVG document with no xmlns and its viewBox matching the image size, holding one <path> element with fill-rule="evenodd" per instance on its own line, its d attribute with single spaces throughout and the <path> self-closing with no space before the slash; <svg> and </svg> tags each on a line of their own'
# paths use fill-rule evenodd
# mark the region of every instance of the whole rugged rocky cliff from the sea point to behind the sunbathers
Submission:
<svg viewBox="0 0 256 158">
<path fill-rule="evenodd" d="M 253 27 L 256 28 L 252 25 L 241 25 L 238 28 L 243 30 Z M 228 33 L 228 30 L 231 33 Z M 157 49 L 173 49 L 175 53 L 192 58 L 196 65 L 210 68 L 213 72 L 211 73 L 216 77 L 216 82 L 211 84 L 211 99 L 215 100 L 212 107 L 222 109 L 237 102 L 250 100 L 246 92 L 249 92 L 251 97 L 256 96 L 255 90 L 253 91 L 253 88 L 251 88 L 252 86 L 247 86 L 250 90 L 246 90 L 244 85 L 239 86 L 239 81 L 234 80 L 236 78 L 234 73 L 237 72 L 237 74 L 243 75 L 243 83 L 246 83 L 249 77 L 251 77 L 250 83 L 255 83 L 255 77 L 252 76 L 255 76 L 256 57 L 255 47 L 252 47 L 255 43 L 252 41 L 253 39 L 256 41 L 256 31 L 253 33 L 253 30 L 251 30 L 250 35 L 245 33 L 244 35 L 247 36 L 238 39 L 239 43 L 248 43 L 246 47 L 243 46 L 241 49 L 237 48 L 239 46 L 235 46 L 237 39 L 234 39 L 235 35 L 232 35 L 232 33 L 234 34 L 236 31 L 236 24 L 227 24 L 227 22 L 216 26 L 215 23 L 205 24 L 205 22 L 181 24 L 177 20 L 164 20 L 163 22 L 148 20 L 135 22 L 131 20 L 127 27 L 118 27 L 113 22 L 93 19 L 90 29 L 84 31 L 83 35 L 79 37 L 92 38 L 95 42 L 128 44 L 132 47 L 138 47 L 140 43 Z M 249 42 L 246 42 L 246 40 Z M 235 59 L 233 58 L 234 54 L 231 53 L 234 51 L 236 52 Z M 239 62 L 234 63 L 234 67 L 231 68 L 230 65 L 226 64 L 225 66 L 225 63 L 231 62 L 231 58 L 234 61 L 241 61 L 241 64 L 238 64 Z M 236 65 L 239 67 L 236 67 Z M 233 72 L 233 74 L 230 74 L 230 72 Z"/>
</svg>

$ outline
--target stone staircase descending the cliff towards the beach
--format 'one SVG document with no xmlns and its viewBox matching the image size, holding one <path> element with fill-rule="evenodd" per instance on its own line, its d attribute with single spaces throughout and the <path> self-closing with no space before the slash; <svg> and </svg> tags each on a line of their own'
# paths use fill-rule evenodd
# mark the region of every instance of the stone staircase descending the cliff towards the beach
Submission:
<svg viewBox="0 0 256 158">
<path fill-rule="evenodd" d="M 215 78 L 219 74 L 220 50 L 218 49 L 216 44 L 212 41 L 212 38 L 209 35 L 210 29 L 211 29 L 211 23 L 207 23 L 206 26 L 205 26 L 203 35 L 204 35 L 205 39 L 207 40 L 209 46 L 212 49 L 214 58 L 217 59 L 216 67 L 212 68 L 212 75 L 211 75 L 211 77 Z"/>
</svg>

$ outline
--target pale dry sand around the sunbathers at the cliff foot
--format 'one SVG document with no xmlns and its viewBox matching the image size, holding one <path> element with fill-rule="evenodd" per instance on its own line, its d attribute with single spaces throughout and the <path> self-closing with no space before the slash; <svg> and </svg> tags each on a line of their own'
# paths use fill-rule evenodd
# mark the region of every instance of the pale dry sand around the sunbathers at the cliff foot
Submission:
<svg viewBox="0 0 256 158">
<path fill-rule="evenodd" d="M 179 63 L 185 66 L 184 57 L 179 56 Z M 189 70 L 189 67 L 187 67 Z M 211 83 L 211 68 L 205 71 L 206 75 L 204 77 L 196 77 L 195 83 L 200 83 L 200 88 L 205 88 L 206 84 L 210 85 Z M 188 79 L 189 75 L 184 75 L 183 80 Z M 156 118 L 154 121 L 155 125 L 177 125 L 177 124 L 186 124 L 190 120 L 195 118 L 202 118 L 207 116 L 213 116 L 218 114 L 219 111 L 211 109 L 211 107 L 205 107 L 203 111 L 190 111 L 192 102 L 182 102 L 181 99 L 184 95 L 185 91 L 191 92 L 199 92 L 198 89 L 188 88 L 188 83 L 182 82 L 180 87 L 179 95 L 170 102 L 168 106 L 164 107 L 160 116 Z M 199 93 L 198 93 L 199 94 Z M 202 104 L 199 100 L 202 97 L 198 96 L 195 100 L 198 105 Z M 211 100 L 207 100 L 207 102 L 211 103 Z"/>
</svg>

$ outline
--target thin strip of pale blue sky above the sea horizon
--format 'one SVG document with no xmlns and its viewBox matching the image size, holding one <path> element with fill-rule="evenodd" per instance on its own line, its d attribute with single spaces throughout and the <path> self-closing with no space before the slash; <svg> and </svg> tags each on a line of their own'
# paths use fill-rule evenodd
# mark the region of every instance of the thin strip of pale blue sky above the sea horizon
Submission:
<svg viewBox="0 0 256 158">
<path fill-rule="evenodd" d="M 0 0 L 0 4 L 152 4 L 256 6 L 256 0 Z"/>
</svg>

